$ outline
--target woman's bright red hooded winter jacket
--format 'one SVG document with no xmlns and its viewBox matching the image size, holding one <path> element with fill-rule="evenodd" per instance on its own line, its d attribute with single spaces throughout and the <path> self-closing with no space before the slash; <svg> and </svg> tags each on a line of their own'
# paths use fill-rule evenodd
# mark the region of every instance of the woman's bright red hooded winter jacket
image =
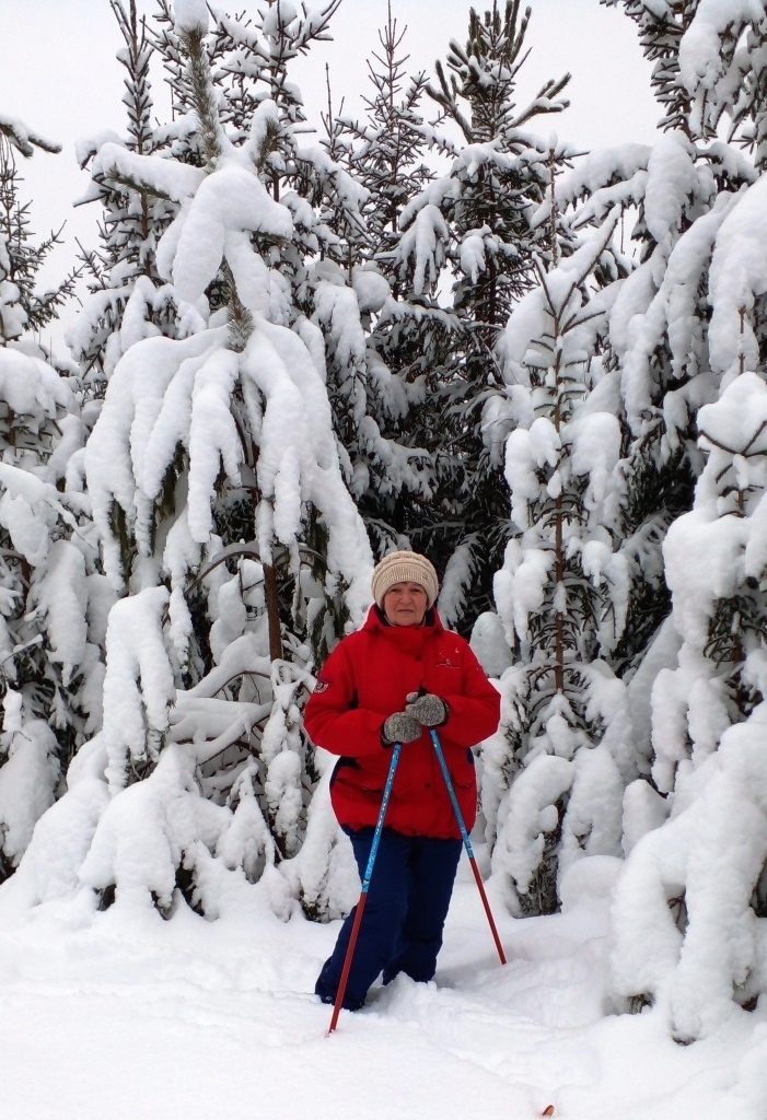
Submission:
<svg viewBox="0 0 767 1120">
<path fill-rule="evenodd" d="M 497 726 L 501 697 L 468 642 L 446 631 L 436 610 L 424 626 L 390 626 L 371 607 L 362 629 L 336 646 L 319 674 L 305 712 L 311 740 L 334 755 L 330 785 L 340 824 L 374 825 L 392 760 L 381 741 L 384 720 L 402 711 L 409 692 L 423 688 L 448 704 L 437 728 L 467 829 L 477 813 L 471 747 Z M 456 837 L 460 830 L 429 730 L 402 747 L 386 827 L 405 836 Z"/>
</svg>

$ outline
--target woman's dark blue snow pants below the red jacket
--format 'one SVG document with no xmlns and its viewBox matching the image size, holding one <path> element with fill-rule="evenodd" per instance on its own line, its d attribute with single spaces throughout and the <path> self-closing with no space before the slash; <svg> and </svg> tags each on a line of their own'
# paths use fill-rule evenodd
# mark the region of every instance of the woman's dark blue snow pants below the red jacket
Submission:
<svg viewBox="0 0 767 1120">
<path fill-rule="evenodd" d="M 361 880 L 365 877 L 374 829 L 344 830 L 352 840 Z M 381 833 L 357 944 L 346 983 L 344 1007 L 356 1011 L 367 989 L 383 972 L 389 983 L 399 972 L 431 980 L 450 905 L 462 841 Z M 344 922 L 333 954 L 315 987 L 324 1004 L 334 1004 L 356 907 Z"/>
</svg>

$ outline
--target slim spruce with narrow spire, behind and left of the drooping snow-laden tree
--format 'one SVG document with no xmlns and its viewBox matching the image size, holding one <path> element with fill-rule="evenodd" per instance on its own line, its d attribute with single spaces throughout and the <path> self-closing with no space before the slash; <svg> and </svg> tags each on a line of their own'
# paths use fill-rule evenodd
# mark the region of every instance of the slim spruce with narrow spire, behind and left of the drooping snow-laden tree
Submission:
<svg viewBox="0 0 767 1120">
<path fill-rule="evenodd" d="M 128 9 L 122 0 L 110 2 L 124 43 L 116 57 L 125 71 L 122 103 L 128 128 L 124 137 L 107 133 L 81 141 L 77 158 L 83 168 L 92 165 L 104 142 L 120 143 L 140 156 L 161 153 L 169 142 L 167 130 L 152 120 L 152 45 L 146 19 L 139 20 L 135 0 L 130 0 Z M 107 184 L 97 175 L 81 205 L 85 203 L 103 207 L 101 245 L 82 251 L 90 296 L 69 328 L 67 343 L 90 391 L 102 394 L 133 342 L 157 334 L 171 338 L 185 334 L 172 291 L 162 282 L 156 261 L 157 243 L 178 207 L 141 184 Z"/>
</svg>

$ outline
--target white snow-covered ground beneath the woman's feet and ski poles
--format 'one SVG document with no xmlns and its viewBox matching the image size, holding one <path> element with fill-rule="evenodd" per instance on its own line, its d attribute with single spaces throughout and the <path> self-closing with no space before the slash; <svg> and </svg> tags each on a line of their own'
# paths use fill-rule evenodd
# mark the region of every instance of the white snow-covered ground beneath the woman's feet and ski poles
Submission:
<svg viewBox="0 0 767 1120">
<path fill-rule="evenodd" d="M 283 924 L 244 887 L 214 923 L 71 903 L 30 922 L 15 916 L 11 880 L 0 1116 L 765 1120 L 765 1012 L 686 1047 L 657 1010 L 607 1014 L 608 902 L 582 879 L 587 903 L 527 920 L 509 917 L 490 883 L 502 967 L 464 858 L 436 983 L 374 990 L 331 1036 L 311 990 L 337 923 Z"/>
</svg>

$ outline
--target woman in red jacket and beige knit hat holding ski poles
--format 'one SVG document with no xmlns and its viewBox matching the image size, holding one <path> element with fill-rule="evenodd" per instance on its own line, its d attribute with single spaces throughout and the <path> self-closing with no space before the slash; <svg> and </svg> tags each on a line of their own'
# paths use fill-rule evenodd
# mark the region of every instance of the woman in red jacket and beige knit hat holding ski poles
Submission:
<svg viewBox="0 0 767 1120">
<path fill-rule="evenodd" d="M 333 808 L 364 877 L 392 759 L 402 744 L 343 1006 L 357 1010 L 376 977 L 431 980 L 442 944 L 461 834 L 429 729 L 439 738 L 464 821 L 471 829 L 477 783 L 471 747 L 492 735 L 499 696 L 468 643 L 434 610 L 431 562 L 392 552 L 373 572 L 374 605 L 362 629 L 338 644 L 306 708 L 312 741 L 340 755 Z M 325 962 L 316 992 L 334 1004 L 354 912 Z"/>
</svg>

